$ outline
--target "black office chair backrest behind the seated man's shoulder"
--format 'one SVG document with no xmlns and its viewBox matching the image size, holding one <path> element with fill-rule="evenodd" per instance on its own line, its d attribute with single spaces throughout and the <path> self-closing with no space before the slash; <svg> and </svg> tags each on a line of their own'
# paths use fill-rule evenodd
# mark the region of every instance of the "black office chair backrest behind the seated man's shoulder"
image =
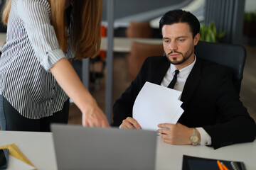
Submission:
<svg viewBox="0 0 256 170">
<path fill-rule="evenodd" d="M 214 42 L 198 42 L 195 50 L 196 57 L 210 60 L 233 70 L 235 89 L 240 94 L 242 73 L 245 67 L 246 50 L 242 45 L 231 45 Z"/>
</svg>

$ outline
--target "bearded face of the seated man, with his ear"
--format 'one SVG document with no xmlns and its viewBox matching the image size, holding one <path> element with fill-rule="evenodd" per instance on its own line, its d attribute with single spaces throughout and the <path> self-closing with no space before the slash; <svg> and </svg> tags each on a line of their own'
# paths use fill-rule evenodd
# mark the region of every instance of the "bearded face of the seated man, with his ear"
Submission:
<svg viewBox="0 0 256 170">
<path fill-rule="evenodd" d="M 164 25 L 162 35 L 164 52 L 177 69 L 182 69 L 194 61 L 194 46 L 198 43 L 199 34 L 193 38 L 188 23 Z"/>
</svg>

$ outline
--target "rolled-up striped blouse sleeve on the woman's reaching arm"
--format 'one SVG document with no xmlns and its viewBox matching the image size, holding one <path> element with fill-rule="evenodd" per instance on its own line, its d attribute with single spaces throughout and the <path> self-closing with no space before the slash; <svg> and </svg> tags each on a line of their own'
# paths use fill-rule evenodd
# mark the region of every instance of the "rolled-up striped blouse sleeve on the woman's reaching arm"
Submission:
<svg viewBox="0 0 256 170">
<path fill-rule="evenodd" d="M 50 24 L 50 4 L 47 0 L 20 0 L 17 11 L 36 57 L 43 68 L 49 71 L 56 62 L 65 57 Z"/>
</svg>

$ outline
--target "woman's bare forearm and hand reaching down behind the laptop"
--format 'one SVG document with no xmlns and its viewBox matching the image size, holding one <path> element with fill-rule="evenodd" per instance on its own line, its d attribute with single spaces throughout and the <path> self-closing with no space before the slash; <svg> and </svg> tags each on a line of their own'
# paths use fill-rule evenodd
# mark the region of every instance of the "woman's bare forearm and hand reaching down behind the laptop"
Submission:
<svg viewBox="0 0 256 170">
<path fill-rule="evenodd" d="M 65 58 L 59 60 L 50 69 L 60 87 L 74 101 L 82 112 L 83 126 L 109 127 L 107 118 L 97 106 L 95 99 L 85 89 L 72 65 Z"/>
</svg>

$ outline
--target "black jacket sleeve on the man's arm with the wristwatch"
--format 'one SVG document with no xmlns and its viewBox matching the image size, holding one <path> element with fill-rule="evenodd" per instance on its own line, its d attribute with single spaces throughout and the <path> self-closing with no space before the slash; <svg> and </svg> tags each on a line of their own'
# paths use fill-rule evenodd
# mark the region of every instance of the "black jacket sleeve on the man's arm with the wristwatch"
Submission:
<svg viewBox="0 0 256 170">
<path fill-rule="evenodd" d="M 233 86 L 232 74 L 222 69 L 215 82 L 215 98 L 218 123 L 203 128 L 211 137 L 214 149 L 235 143 L 255 140 L 255 121 L 242 105 Z"/>
</svg>

